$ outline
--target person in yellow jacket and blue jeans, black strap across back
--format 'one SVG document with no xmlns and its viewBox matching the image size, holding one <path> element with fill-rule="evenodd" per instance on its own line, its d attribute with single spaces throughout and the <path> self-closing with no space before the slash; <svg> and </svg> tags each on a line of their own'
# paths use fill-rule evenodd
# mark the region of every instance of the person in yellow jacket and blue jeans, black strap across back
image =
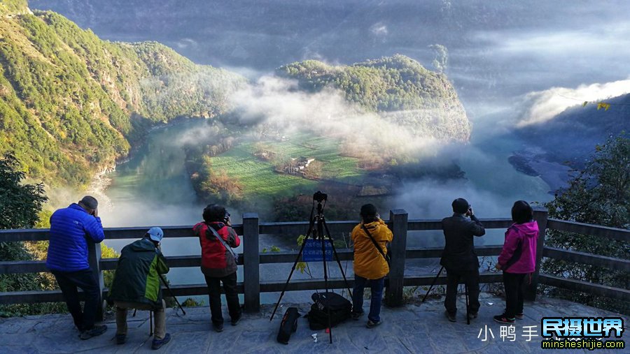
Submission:
<svg viewBox="0 0 630 354">
<path fill-rule="evenodd" d="M 381 302 L 385 276 L 389 273 L 389 266 L 384 256 L 387 254 L 387 243 L 393 235 L 384 221 L 379 218 L 376 207 L 366 204 L 361 207 L 361 223 L 352 230 L 354 243 L 354 291 L 352 293 L 352 318 L 358 320 L 363 316 L 363 289 L 370 286 L 372 300 L 370 313 L 367 314 L 367 328 L 381 324 Z M 367 229 L 367 232 L 366 230 Z M 374 239 L 370 239 L 370 236 Z M 383 252 L 377 249 L 377 245 Z"/>
</svg>

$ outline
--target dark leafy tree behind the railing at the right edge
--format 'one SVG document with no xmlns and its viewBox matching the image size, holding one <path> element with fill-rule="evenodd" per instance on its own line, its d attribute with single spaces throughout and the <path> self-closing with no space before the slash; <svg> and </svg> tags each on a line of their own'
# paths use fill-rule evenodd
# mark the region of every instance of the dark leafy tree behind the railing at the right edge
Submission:
<svg viewBox="0 0 630 354">
<path fill-rule="evenodd" d="M 549 217 L 592 223 L 614 228 L 630 228 L 630 138 L 624 133 L 598 145 L 596 152 L 570 181 L 568 189 L 545 204 Z M 630 242 L 547 230 L 548 246 L 628 258 Z M 547 259 L 542 263 L 547 274 L 591 283 L 630 288 L 629 272 L 609 270 L 566 260 Z M 612 300 L 589 293 L 549 290 L 552 295 L 595 307 L 630 313 L 630 301 Z"/>
</svg>

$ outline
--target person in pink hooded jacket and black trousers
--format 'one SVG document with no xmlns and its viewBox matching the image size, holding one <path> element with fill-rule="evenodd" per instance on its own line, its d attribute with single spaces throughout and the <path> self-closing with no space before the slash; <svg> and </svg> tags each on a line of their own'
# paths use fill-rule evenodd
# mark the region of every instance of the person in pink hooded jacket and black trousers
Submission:
<svg viewBox="0 0 630 354">
<path fill-rule="evenodd" d="M 505 311 L 494 316 L 498 323 L 514 323 L 514 318 L 523 319 L 523 285 L 527 274 L 536 267 L 536 242 L 538 223 L 533 219 L 533 210 L 524 200 L 514 202 L 512 221 L 505 232 L 503 250 L 498 256 L 496 269 L 503 270 L 505 286 Z"/>
</svg>

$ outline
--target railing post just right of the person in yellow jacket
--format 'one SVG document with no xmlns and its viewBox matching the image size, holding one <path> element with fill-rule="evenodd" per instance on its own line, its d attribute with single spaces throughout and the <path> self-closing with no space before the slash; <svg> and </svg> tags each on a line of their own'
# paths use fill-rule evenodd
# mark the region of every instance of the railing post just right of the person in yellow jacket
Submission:
<svg viewBox="0 0 630 354">
<path fill-rule="evenodd" d="M 404 209 L 393 209 L 389 212 L 393 240 L 391 252 L 391 267 L 389 269 L 389 288 L 385 299 L 388 306 L 402 304 L 402 283 L 405 281 L 405 251 L 407 251 L 407 219 Z"/>
</svg>

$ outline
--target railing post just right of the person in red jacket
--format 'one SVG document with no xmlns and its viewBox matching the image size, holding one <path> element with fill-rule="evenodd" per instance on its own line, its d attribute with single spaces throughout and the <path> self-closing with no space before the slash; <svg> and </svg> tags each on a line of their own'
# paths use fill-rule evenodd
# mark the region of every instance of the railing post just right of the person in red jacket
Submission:
<svg viewBox="0 0 630 354">
<path fill-rule="evenodd" d="M 245 311 L 260 312 L 260 253 L 258 252 L 258 214 L 243 214 L 243 286 Z"/>
</svg>

